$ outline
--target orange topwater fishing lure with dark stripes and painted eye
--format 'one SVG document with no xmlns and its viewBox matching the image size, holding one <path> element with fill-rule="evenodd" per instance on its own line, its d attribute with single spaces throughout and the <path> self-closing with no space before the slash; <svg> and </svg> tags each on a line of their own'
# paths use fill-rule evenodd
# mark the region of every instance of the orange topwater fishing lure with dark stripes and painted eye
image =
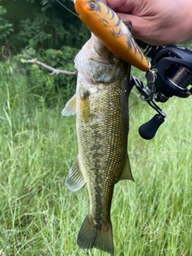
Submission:
<svg viewBox="0 0 192 256">
<path fill-rule="evenodd" d="M 74 0 L 74 8 L 82 22 L 113 54 L 139 70 L 150 70 L 150 62 L 130 30 L 106 4 L 101 0 Z"/>
</svg>

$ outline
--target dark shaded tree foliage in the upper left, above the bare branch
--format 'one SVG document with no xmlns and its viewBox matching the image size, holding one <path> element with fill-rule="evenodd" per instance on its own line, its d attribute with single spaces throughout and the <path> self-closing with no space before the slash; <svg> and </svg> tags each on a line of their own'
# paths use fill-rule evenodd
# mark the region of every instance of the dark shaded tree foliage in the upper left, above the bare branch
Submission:
<svg viewBox="0 0 192 256">
<path fill-rule="evenodd" d="M 72 2 L 62 2 L 74 11 Z M 6 8 L 0 9 L 0 38 L 6 38 L 13 53 L 25 47 L 35 50 L 60 49 L 62 46 L 80 48 L 89 38 L 82 22 L 56 0 L 6 0 L 3 6 Z M 14 34 L 10 34 L 12 31 Z M 4 45 L 5 42 L 0 43 L 0 46 Z"/>
</svg>

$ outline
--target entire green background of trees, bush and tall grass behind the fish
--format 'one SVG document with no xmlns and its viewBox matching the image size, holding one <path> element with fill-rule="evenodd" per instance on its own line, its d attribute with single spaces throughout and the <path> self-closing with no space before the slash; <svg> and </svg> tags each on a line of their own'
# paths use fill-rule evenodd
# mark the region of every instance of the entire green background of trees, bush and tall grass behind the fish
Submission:
<svg viewBox="0 0 192 256">
<path fill-rule="evenodd" d="M 74 10 L 69 0 L 61 2 Z M 78 149 L 75 118 L 61 112 L 76 77 L 50 75 L 23 61 L 74 70 L 74 56 L 89 37 L 56 0 L 0 1 L 0 256 L 106 255 L 78 249 L 88 194 L 86 186 L 74 194 L 65 186 Z M 154 110 L 136 93 L 130 95 L 129 136 L 136 182 L 115 186 L 115 255 L 191 256 L 191 99 L 162 104 L 166 122 L 145 141 L 138 127 Z"/>
</svg>

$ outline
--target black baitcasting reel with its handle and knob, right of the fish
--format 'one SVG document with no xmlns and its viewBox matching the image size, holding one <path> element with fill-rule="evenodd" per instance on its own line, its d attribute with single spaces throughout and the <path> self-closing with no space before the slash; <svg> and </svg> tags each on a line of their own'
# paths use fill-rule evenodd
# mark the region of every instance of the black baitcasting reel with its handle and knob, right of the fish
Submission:
<svg viewBox="0 0 192 256">
<path fill-rule="evenodd" d="M 139 128 L 142 138 L 154 138 L 166 114 L 155 102 L 166 102 L 170 97 L 187 98 L 192 94 L 192 50 L 180 46 L 150 46 L 137 41 L 143 53 L 151 58 L 151 70 L 146 73 L 146 86 L 137 78 L 130 78 L 130 90 L 136 86 L 143 101 L 158 112 Z"/>
</svg>

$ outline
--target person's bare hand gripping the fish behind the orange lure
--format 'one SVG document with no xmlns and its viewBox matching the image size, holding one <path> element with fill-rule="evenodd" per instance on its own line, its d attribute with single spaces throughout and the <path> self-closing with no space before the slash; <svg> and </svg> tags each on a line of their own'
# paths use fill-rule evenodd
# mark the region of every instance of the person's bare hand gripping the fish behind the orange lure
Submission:
<svg viewBox="0 0 192 256">
<path fill-rule="evenodd" d="M 102 0 L 132 22 L 134 38 L 166 46 L 192 39 L 191 0 Z"/>
</svg>

